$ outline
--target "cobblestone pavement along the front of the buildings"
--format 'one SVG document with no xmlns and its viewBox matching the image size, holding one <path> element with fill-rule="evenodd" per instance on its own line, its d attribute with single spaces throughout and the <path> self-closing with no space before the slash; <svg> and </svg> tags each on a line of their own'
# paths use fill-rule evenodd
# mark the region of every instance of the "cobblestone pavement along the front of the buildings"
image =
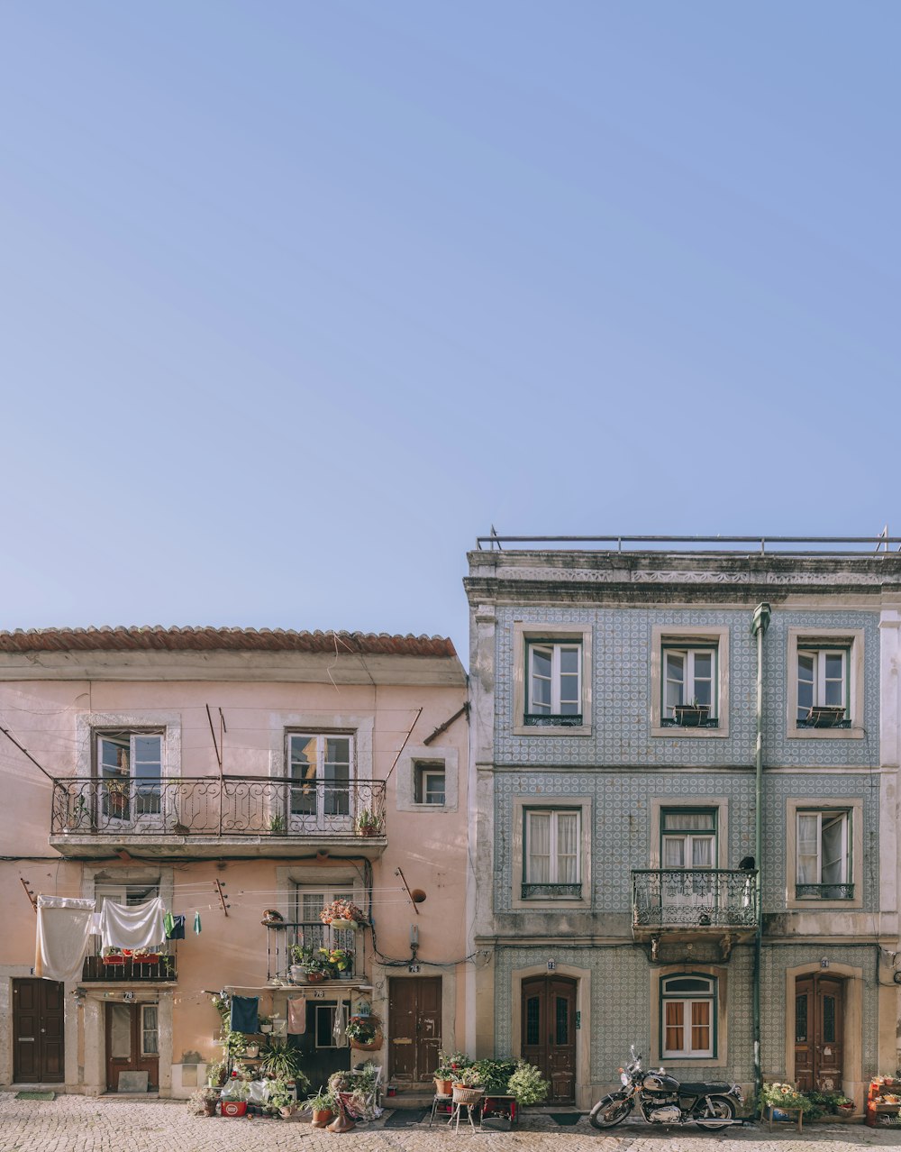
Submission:
<svg viewBox="0 0 901 1152">
<path fill-rule="evenodd" d="M 194 1116 L 181 1100 L 134 1100 L 61 1096 L 48 1100 L 16 1100 L 0 1092 L 0 1152 L 785 1152 L 790 1144 L 805 1152 L 850 1152 L 901 1146 L 901 1129 L 878 1130 L 863 1124 L 812 1126 L 803 1134 L 787 1126 L 770 1132 L 765 1126 L 725 1132 L 681 1129 L 656 1131 L 623 1124 L 600 1134 L 583 1117 L 561 1127 L 550 1116 L 525 1113 L 512 1132 L 448 1131 L 445 1123 L 385 1128 L 383 1120 L 361 1124 L 346 1136 L 310 1128 L 308 1123 L 267 1119 Z"/>
</svg>

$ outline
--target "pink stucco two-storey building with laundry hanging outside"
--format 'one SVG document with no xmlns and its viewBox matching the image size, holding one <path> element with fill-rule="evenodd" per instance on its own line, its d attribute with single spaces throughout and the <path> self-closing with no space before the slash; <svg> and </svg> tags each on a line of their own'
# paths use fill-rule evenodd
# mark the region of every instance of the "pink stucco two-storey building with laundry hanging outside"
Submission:
<svg viewBox="0 0 901 1152">
<path fill-rule="evenodd" d="M 221 1059 L 222 988 L 277 1033 L 301 1003 L 313 1086 L 359 1058 L 342 1011 L 380 1017 L 365 1055 L 401 1089 L 463 1046 L 468 710 L 448 639 L 3 632 L 0 726 L 0 1084 L 100 1093 L 146 1071 L 187 1096 Z M 37 979 L 29 894 L 159 899 L 184 939 L 116 960 L 91 935 L 76 978 Z M 339 897 L 369 926 L 324 925 Z M 292 983 L 295 945 L 353 957 Z"/>
</svg>

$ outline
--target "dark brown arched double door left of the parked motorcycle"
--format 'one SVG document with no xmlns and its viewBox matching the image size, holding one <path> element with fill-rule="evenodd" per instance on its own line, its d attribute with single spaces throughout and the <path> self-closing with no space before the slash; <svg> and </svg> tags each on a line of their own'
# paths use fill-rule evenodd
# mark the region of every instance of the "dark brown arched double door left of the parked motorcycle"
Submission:
<svg viewBox="0 0 901 1152">
<path fill-rule="evenodd" d="M 575 1099 L 575 980 L 539 976 L 523 983 L 522 1055 L 551 1082 L 551 1102 L 570 1104 Z"/>
</svg>

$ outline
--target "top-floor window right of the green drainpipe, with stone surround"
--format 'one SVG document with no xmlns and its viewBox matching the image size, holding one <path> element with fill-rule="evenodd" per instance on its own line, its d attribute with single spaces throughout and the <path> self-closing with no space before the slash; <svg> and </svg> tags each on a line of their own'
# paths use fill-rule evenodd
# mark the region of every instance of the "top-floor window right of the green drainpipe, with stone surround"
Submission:
<svg viewBox="0 0 901 1152">
<path fill-rule="evenodd" d="M 863 740 L 864 632 L 789 628 L 789 740 Z"/>
</svg>

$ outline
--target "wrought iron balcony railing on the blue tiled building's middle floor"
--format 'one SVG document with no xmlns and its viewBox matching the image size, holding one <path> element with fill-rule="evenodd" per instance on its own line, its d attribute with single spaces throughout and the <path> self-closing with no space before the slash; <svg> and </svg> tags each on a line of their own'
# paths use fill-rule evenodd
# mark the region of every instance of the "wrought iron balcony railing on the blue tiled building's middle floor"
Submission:
<svg viewBox="0 0 901 1152">
<path fill-rule="evenodd" d="M 727 929 L 757 923 L 756 872 L 637 869 L 631 878 L 635 927 Z"/>
</svg>

